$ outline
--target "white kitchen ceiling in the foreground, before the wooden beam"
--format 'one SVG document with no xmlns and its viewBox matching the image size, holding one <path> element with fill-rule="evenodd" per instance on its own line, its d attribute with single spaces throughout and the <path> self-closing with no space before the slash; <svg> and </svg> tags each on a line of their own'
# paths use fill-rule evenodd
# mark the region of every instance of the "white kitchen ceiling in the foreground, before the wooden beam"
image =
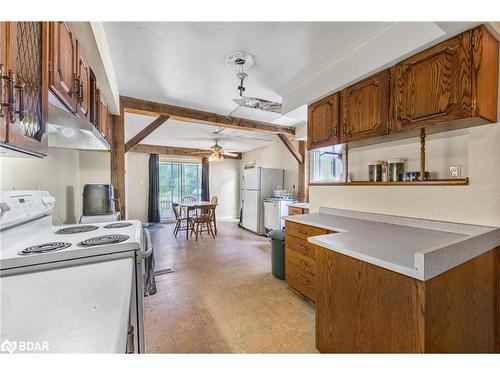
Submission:
<svg viewBox="0 0 500 375">
<path fill-rule="evenodd" d="M 234 51 L 253 55 L 245 94 L 281 101 L 287 90 L 390 22 L 106 22 L 120 95 L 229 114 L 237 105 Z"/>
</svg>

